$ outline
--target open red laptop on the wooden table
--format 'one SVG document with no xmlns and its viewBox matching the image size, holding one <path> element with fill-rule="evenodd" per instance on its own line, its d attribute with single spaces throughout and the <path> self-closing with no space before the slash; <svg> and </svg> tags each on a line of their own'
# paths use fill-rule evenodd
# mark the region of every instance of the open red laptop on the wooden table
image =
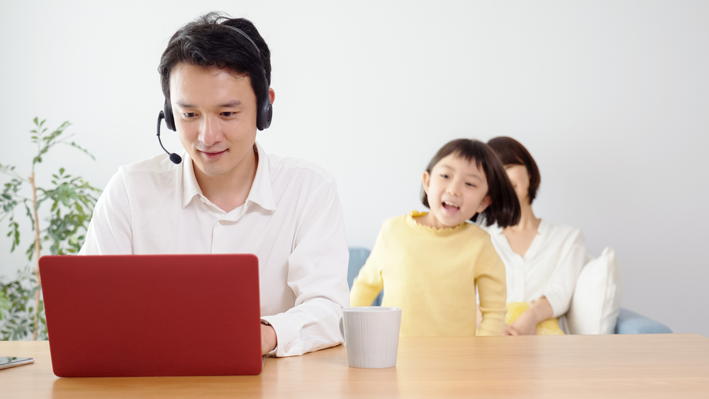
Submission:
<svg viewBox="0 0 709 399">
<path fill-rule="evenodd" d="M 255 255 L 48 256 L 40 277 L 57 376 L 262 370 Z"/>
</svg>

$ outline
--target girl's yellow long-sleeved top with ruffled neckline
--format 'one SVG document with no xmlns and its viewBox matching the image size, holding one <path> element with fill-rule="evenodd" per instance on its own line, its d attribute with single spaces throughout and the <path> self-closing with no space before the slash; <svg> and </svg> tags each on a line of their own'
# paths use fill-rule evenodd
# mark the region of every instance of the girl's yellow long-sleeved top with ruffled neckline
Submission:
<svg viewBox="0 0 709 399">
<path fill-rule="evenodd" d="M 402 337 L 473 336 L 477 290 L 480 335 L 502 335 L 505 265 L 490 235 L 472 223 L 416 223 L 423 215 L 414 210 L 384 221 L 354 279 L 350 306 L 369 306 L 384 289 L 381 305 L 401 308 Z"/>
</svg>

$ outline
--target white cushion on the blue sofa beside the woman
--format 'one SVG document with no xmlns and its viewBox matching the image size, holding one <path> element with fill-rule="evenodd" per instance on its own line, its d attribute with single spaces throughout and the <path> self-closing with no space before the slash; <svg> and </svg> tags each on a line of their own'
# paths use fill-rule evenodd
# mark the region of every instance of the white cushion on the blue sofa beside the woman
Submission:
<svg viewBox="0 0 709 399">
<path fill-rule="evenodd" d="M 576 281 L 566 325 L 571 334 L 613 334 L 623 294 L 618 259 L 610 247 L 589 259 Z"/>
</svg>

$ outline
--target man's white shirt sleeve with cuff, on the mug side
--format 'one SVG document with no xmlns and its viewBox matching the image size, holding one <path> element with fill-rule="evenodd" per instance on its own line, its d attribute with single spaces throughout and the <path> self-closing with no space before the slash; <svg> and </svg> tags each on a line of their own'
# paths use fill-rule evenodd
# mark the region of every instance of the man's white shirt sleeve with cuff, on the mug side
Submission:
<svg viewBox="0 0 709 399">
<path fill-rule="evenodd" d="M 276 356 L 298 356 L 342 343 L 340 319 L 349 302 L 350 252 L 334 181 L 315 191 L 300 217 L 295 247 L 288 258 L 287 283 L 296 298 L 295 306 L 261 317 L 276 332 Z"/>
</svg>

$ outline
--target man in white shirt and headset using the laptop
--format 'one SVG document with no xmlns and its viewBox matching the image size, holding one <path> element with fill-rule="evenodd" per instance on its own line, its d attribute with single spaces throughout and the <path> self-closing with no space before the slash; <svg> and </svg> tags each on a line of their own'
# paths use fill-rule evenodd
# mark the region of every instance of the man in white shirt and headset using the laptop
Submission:
<svg viewBox="0 0 709 399">
<path fill-rule="evenodd" d="M 332 176 L 256 142 L 270 120 L 257 108 L 275 99 L 263 38 L 250 21 L 207 14 L 172 36 L 159 72 L 186 154 L 118 169 L 80 254 L 256 254 L 262 354 L 340 344 L 349 296 L 342 207 Z"/>
</svg>

